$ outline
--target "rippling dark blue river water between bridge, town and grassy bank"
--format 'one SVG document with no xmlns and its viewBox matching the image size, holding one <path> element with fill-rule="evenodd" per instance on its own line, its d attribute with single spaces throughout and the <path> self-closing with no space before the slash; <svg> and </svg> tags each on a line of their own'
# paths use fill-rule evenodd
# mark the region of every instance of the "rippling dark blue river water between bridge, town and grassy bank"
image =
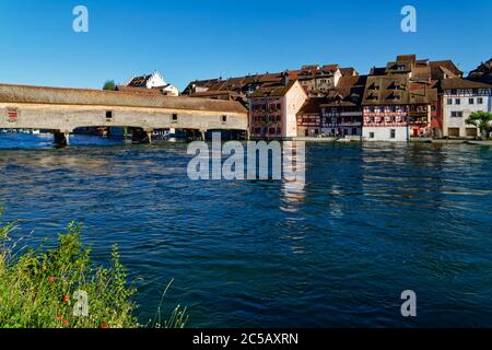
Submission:
<svg viewBox="0 0 492 350">
<path fill-rule="evenodd" d="M 142 323 L 174 278 L 189 327 L 492 326 L 492 148 L 309 144 L 292 194 L 191 182 L 186 144 L 50 142 L 0 136 L 3 219 L 32 244 L 82 221 L 97 261 L 117 243 Z"/>
</svg>

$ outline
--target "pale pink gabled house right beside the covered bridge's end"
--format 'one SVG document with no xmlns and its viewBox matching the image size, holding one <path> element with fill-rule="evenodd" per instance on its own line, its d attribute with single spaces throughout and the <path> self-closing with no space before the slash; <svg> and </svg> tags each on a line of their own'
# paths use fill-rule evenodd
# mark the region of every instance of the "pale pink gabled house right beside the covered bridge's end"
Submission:
<svg viewBox="0 0 492 350">
<path fill-rule="evenodd" d="M 298 81 L 271 84 L 249 95 L 249 133 L 251 138 L 294 138 L 296 115 L 307 100 Z"/>
</svg>

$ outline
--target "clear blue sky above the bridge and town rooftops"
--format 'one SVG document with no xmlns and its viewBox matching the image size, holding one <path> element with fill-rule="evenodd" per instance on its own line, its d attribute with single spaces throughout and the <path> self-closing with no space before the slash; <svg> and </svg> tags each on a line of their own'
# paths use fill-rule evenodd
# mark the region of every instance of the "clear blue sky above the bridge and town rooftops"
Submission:
<svg viewBox="0 0 492 350">
<path fill-rule="evenodd" d="M 72 31 L 78 4 L 86 34 Z M 400 31 L 405 4 L 415 34 Z M 412 52 L 469 71 L 492 57 L 491 13 L 490 0 L 1 0 L 0 82 L 99 89 L 159 70 L 183 89 L 306 63 L 366 73 Z"/>
</svg>

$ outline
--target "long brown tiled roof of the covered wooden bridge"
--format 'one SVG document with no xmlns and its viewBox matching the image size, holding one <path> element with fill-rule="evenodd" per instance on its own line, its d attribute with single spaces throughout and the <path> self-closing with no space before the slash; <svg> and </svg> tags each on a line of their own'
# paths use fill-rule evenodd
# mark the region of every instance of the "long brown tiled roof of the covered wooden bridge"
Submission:
<svg viewBox="0 0 492 350">
<path fill-rule="evenodd" d="M 145 107 L 220 113 L 247 113 L 238 102 L 164 96 L 138 92 L 47 88 L 0 84 L 0 103 L 32 103 L 47 105 L 89 105 Z"/>
</svg>

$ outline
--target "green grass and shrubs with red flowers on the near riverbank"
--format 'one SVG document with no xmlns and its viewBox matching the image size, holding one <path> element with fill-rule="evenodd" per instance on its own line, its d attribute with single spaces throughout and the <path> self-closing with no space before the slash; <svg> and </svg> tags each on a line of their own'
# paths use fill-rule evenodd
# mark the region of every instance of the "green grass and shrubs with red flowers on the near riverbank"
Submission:
<svg viewBox="0 0 492 350">
<path fill-rule="evenodd" d="M 137 290 L 127 282 L 117 246 L 108 267 L 95 266 L 91 248 L 81 243 L 80 225 L 72 222 L 55 248 L 26 248 L 16 256 L 13 229 L 0 223 L 0 328 L 142 327 L 134 317 Z M 144 327 L 185 327 L 186 308 L 177 306 L 162 317 L 169 287 L 155 318 Z"/>
</svg>

